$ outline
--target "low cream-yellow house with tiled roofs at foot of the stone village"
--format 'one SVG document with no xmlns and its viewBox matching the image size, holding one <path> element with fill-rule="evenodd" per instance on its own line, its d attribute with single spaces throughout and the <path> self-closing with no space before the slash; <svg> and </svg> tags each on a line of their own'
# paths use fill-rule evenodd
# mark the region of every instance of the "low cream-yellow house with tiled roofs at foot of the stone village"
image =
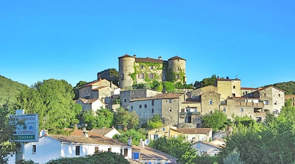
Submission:
<svg viewBox="0 0 295 164">
<path fill-rule="evenodd" d="M 188 141 L 206 141 L 212 139 L 212 128 L 176 128 L 175 126 L 163 125 L 158 128 L 150 129 L 148 132 L 148 139 L 155 140 L 162 136 L 177 137 L 184 135 Z"/>
</svg>

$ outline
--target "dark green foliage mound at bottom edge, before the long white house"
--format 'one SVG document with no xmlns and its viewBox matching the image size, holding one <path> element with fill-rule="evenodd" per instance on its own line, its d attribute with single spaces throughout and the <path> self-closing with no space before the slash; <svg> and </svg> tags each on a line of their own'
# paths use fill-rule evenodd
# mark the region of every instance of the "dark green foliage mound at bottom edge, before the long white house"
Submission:
<svg viewBox="0 0 295 164">
<path fill-rule="evenodd" d="M 99 161 L 99 162 L 98 162 Z M 129 164 L 128 160 L 122 154 L 109 152 L 109 151 L 97 151 L 93 155 L 85 155 L 76 158 L 58 158 L 50 160 L 45 164 L 69 164 L 69 163 L 83 163 L 83 164 L 95 164 L 95 163 L 108 163 L 108 164 Z"/>
</svg>

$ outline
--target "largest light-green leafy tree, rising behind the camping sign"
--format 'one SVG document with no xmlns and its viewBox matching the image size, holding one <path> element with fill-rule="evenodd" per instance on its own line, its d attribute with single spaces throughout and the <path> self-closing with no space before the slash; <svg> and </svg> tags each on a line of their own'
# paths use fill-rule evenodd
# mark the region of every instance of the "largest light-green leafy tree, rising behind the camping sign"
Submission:
<svg viewBox="0 0 295 164">
<path fill-rule="evenodd" d="M 81 112 L 73 98 L 73 87 L 65 80 L 43 80 L 21 92 L 17 108 L 25 113 L 38 113 L 40 129 L 62 129 L 76 123 Z"/>
</svg>

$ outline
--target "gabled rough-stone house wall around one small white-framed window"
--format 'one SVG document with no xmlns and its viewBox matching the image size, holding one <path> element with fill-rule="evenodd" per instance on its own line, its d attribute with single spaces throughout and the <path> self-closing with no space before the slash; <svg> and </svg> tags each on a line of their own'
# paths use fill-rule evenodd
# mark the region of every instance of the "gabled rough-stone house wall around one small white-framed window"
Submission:
<svg viewBox="0 0 295 164">
<path fill-rule="evenodd" d="M 212 105 L 209 104 L 209 99 L 212 99 Z M 206 113 L 210 113 L 210 111 L 214 111 L 219 109 L 220 104 L 220 94 L 209 91 L 201 95 L 201 106 L 202 106 L 202 115 Z"/>
</svg>

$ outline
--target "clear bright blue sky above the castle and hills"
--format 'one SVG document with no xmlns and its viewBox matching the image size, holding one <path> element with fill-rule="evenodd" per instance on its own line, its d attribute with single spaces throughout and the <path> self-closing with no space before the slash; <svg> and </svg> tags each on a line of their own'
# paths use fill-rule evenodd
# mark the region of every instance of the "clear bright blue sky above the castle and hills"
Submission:
<svg viewBox="0 0 295 164">
<path fill-rule="evenodd" d="M 93 81 L 118 57 L 185 58 L 187 83 L 294 81 L 295 1 L 1 1 L 0 74 Z"/>
</svg>

